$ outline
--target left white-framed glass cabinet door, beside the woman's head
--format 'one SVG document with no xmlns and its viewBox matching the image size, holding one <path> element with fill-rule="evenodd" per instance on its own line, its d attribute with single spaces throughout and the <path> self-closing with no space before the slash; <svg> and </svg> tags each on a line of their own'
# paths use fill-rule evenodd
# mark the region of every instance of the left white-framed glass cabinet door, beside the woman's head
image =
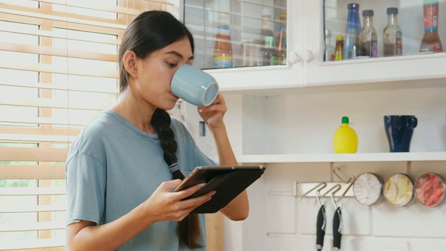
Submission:
<svg viewBox="0 0 446 251">
<path fill-rule="evenodd" d="M 222 91 L 303 86 L 302 4 L 185 0 L 183 20 L 196 44 L 194 66 L 213 75 Z"/>
</svg>

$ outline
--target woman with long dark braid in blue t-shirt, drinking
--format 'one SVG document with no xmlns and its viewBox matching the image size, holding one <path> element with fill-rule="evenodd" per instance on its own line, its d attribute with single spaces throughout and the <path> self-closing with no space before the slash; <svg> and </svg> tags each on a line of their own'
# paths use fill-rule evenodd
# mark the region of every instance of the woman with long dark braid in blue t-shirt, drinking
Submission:
<svg viewBox="0 0 446 251">
<path fill-rule="evenodd" d="M 169 13 L 141 13 L 126 29 L 119 48 L 118 100 L 84 128 L 68 154 L 70 251 L 204 247 L 203 215 L 197 222 L 198 215 L 189 213 L 214 192 L 184 201 L 201 185 L 169 192 L 182 176 L 172 176 L 169 167 L 190 172 L 215 165 L 166 112 L 178 100 L 170 89 L 174 73 L 193 59 L 190 31 Z M 237 165 L 222 95 L 197 111 L 213 133 L 220 165 Z M 221 210 L 231 220 L 244 220 L 248 211 L 246 192 Z"/>
</svg>

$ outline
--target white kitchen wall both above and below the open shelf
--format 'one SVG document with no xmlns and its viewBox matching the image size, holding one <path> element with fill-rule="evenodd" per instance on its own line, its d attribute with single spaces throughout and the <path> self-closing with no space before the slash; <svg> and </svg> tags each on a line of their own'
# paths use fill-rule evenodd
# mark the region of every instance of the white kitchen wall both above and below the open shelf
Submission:
<svg viewBox="0 0 446 251">
<path fill-rule="evenodd" d="M 229 133 L 237 153 L 240 149 L 244 154 L 333 153 L 332 136 L 341 116 L 353 123 L 358 152 L 388 152 L 385 114 L 417 116 L 411 151 L 446 151 L 445 87 L 319 90 L 268 97 L 225 93 L 226 123 L 231 124 Z M 346 177 L 372 172 L 385 180 L 401 172 L 415 181 L 435 172 L 446 178 L 445 165 L 446 161 L 270 163 L 266 174 L 248 189 L 249 218 L 225 221 L 225 250 L 315 250 L 318 204 L 314 197 L 301 201 L 294 197 L 293 181 L 339 182 L 334 167 L 340 167 Z M 324 200 L 328 208 L 324 250 L 331 250 L 334 208 L 330 199 Z M 359 204 L 353 197 L 341 202 L 342 250 L 446 250 L 444 203 L 428 208 L 414 200 L 397 208 L 384 199 L 374 206 Z"/>
</svg>

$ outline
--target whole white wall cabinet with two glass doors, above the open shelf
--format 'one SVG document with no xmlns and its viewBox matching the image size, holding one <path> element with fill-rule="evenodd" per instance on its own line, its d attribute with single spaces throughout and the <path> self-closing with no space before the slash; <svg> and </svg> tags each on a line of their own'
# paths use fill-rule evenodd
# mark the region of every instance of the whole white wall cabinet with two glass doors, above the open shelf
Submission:
<svg viewBox="0 0 446 251">
<path fill-rule="evenodd" d="M 289 88 L 302 86 L 373 84 L 446 77 L 446 71 L 443 70 L 446 62 L 445 52 L 435 54 L 418 52 L 424 33 L 422 0 L 389 0 L 373 3 L 365 0 L 354 1 L 360 4 L 361 25 L 362 10 L 374 10 L 374 27 L 378 33 L 378 58 L 324 61 L 325 29 L 332 31 L 331 44 L 334 46 L 337 34 L 345 33 L 347 4 L 351 2 L 351 0 L 248 0 L 204 3 L 204 1 L 189 0 L 185 1 L 185 23 L 190 26 L 196 37 L 197 50 L 207 48 L 210 50 L 209 54 L 213 50 L 216 32 L 215 29 L 209 31 L 217 24 L 212 20 L 206 24 L 206 17 L 209 19 L 209 16 L 215 15 L 217 11 L 228 11 L 234 17 L 231 19 L 231 27 L 234 34 L 232 45 L 236 57 L 240 54 L 240 40 L 251 32 L 248 28 L 243 28 L 252 27 L 243 21 L 246 19 L 244 17 L 252 17 L 256 20 L 254 23 L 260 26 L 261 8 L 286 6 L 288 47 L 286 65 L 208 69 L 208 73 L 220 83 L 222 91 L 282 89 L 282 93 L 287 93 Z M 439 3 L 439 34 L 445 43 L 446 32 L 442 24 L 446 23 L 446 0 L 440 0 Z M 383 57 L 383 29 L 387 24 L 386 10 L 389 7 L 399 8 L 398 23 L 403 30 L 403 56 Z M 197 20 L 196 17 L 200 15 L 201 19 Z M 277 14 L 274 18 L 278 19 Z M 205 19 L 204 26 L 203 19 Z"/>
</svg>

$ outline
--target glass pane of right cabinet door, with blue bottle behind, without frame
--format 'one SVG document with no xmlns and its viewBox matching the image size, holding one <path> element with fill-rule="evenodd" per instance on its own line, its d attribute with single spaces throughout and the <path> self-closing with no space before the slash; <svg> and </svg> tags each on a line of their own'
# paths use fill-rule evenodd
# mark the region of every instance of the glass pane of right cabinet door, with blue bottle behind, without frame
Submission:
<svg viewBox="0 0 446 251">
<path fill-rule="evenodd" d="M 325 0 L 324 61 L 443 52 L 445 12 L 438 0 Z"/>
</svg>

